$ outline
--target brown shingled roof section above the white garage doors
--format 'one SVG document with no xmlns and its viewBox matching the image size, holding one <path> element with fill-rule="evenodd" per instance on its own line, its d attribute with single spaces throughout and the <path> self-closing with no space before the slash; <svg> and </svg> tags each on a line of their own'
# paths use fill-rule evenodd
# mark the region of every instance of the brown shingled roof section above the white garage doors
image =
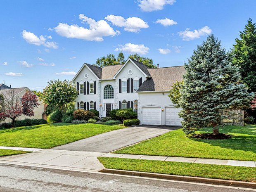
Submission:
<svg viewBox="0 0 256 192">
<path fill-rule="evenodd" d="M 183 80 L 184 66 L 147 69 L 152 78 L 142 83 L 137 92 L 143 91 L 168 91 L 173 83 Z"/>
</svg>

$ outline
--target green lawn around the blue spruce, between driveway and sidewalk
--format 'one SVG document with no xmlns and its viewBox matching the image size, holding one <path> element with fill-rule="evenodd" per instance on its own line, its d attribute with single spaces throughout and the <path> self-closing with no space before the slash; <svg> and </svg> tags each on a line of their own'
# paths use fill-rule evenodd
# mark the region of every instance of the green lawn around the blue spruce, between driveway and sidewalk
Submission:
<svg viewBox="0 0 256 192">
<path fill-rule="evenodd" d="M 211 132 L 210 128 L 204 128 L 197 133 Z M 195 139 L 186 137 L 182 130 L 178 129 L 114 153 L 256 161 L 255 125 L 226 126 L 220 129 L 220 133 L 230 134 L 232 138 Z"/>
</svg>

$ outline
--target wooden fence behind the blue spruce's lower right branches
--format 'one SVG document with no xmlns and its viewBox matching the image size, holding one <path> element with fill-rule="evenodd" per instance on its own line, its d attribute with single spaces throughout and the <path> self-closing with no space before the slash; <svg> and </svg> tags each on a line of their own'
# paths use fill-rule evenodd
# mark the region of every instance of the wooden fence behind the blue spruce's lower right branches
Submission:
<svg viewBox="0 0 256 192">
<path fill-rule="evenodd" d="M 224 111 L 223 114 L 227 116 L 223 122 L 234 126 L 244 126 L 244 110 L 228 110 Z"/>
</svg>

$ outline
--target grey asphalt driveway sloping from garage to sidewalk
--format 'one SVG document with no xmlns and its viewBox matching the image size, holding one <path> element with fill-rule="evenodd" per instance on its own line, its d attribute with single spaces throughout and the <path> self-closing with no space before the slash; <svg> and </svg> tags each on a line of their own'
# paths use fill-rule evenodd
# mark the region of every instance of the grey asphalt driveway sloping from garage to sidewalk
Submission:
<svg viewBox="0 0 256 192">
<path fill-rule="evenodd" d="M 110 131 L 53 149 L 85 152 L 112 152 L 137 142 L 157 137 L 180 126 L 136 126 Z"/>
</svg>

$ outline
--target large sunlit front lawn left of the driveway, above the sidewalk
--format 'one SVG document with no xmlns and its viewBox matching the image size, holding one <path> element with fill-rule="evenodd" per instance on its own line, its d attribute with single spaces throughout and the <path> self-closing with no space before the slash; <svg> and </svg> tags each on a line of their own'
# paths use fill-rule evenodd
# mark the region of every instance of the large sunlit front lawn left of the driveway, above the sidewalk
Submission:
<svg viewBox="0 0 256 192">
<path fill-rule="evenodd" d="M 93 123 L 50 123 L 4 129 L 0 130 L 0 146 L 47 149 L 121 128 L 125 127 Z"/>
</svg>

